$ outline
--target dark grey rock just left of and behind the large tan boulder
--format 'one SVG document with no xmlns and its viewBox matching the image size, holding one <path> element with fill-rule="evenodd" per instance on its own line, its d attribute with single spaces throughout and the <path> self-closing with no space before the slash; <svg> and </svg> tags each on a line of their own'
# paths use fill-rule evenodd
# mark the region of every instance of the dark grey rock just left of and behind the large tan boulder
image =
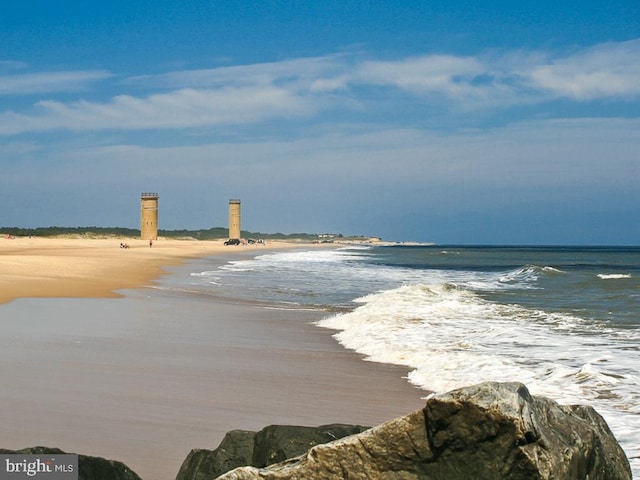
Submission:
<svg viewBox="0 0 640 480">
<path fill-rule="evenodd" d="M 215 450 L 191 450 L 176 480 L 210 480 L 244 465 L 266 467 L 301 455 L 311 447 L 360 433 L 369 427 L 323 425 L 297 427 L 271 425 L 259 432 L 228 432 Z"/>
</svg>

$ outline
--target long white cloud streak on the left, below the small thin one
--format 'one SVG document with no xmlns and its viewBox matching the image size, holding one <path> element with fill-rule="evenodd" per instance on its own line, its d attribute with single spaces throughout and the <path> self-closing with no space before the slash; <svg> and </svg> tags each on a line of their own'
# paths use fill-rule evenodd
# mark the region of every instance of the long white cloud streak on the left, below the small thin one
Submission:
<svg viewBox="0 0 640 480">
<path fill-rule="evenodd" d="M 35 115 L 0 114 L 0 134 L 239 125 L 312 111 L 304 99 L 274 86 L 182 89 L 147 98 L 120 95 L 108 103 L 42 101 L 37 104 Z"/>
</svg>

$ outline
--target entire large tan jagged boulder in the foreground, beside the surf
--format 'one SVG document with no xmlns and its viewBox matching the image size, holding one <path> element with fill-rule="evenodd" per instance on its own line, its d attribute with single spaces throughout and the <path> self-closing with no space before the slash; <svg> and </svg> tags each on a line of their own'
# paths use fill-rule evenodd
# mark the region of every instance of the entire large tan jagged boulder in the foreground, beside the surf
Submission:
<svg viewBox="0 0 640 480">
<path fill-rule="evenodd" d="M 520 383 L 482 383 L 435 395 L 422 410 L 224 480 L 631 480 L 606 422 Z"/>
</svg>

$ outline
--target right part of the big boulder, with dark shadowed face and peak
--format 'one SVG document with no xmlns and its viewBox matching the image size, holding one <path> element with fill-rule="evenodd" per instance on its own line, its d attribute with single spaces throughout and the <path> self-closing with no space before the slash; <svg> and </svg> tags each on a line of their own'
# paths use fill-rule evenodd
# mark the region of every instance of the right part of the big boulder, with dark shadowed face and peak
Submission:
<svg viewBox="0 0 640 480">
<path fill-rule="evenodd" d="M 593 408 L 560 406 L 519 383 L 438 395 L 424 412 L 430 448 L 450 478 L 631 479 L 622 448 Z"/>
</svg>

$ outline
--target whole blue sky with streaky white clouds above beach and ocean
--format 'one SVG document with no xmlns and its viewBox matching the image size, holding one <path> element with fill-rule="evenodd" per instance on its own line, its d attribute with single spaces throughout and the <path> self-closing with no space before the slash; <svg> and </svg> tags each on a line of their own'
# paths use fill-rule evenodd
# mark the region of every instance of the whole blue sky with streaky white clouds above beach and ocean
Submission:
<svg viewBox="0 0 640 480">
<path fill-rule="evenodd" d="M 640 245 L 640 1 L 23 0 L 0 227 Z"/>
</svg>

